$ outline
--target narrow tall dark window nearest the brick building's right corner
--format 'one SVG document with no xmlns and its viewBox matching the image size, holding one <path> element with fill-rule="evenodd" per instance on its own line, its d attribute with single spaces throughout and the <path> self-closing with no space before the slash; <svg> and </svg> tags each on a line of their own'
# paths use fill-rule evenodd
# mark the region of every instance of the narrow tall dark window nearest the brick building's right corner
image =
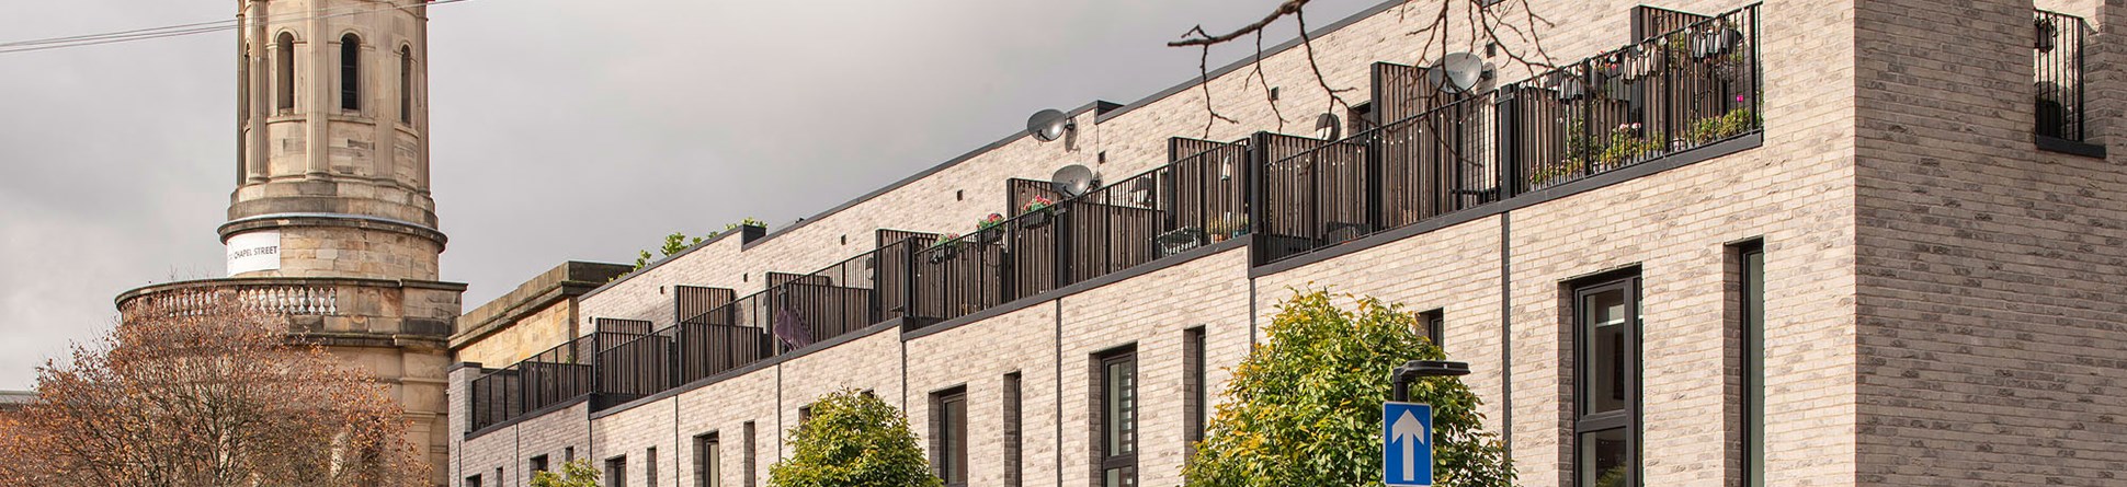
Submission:
<svg viewBox="0 0 2127 487">
<path fill-rule="evenodd" d="M 1765 487 L 1765 245 L 1736 247 L 1742 264 L 1738 285 L 1742 323 L 1742 478 L 1744 487 Z"/>
</svg>

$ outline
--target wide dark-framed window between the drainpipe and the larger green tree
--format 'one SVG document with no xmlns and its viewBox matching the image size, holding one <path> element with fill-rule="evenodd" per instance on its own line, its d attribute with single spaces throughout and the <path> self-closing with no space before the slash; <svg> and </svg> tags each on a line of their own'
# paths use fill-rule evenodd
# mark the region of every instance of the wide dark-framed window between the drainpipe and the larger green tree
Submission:
<svg viewBox="0 0 2127 487">
<path fill-rule="evenodd" d="M 1100 438 L 1102 487 L 1138 485 L 1138 355 L 1134 349 L 1102 353 L 1098 357 L 1095 398 L 1100 408 L 1095 436 Z"/>
</svg>

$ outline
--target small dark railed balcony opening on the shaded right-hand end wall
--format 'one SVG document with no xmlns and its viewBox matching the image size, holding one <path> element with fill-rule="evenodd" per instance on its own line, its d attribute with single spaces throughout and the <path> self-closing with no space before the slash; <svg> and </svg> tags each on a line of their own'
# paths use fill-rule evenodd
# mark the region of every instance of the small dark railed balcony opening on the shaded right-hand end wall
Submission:
<svg viewBox="0 0 2127 487">
<path fill-rule="evenodd" d="M 2082 106 L 2082 38 L 2091 30 L 2082 17 L 2036 11 L 2031 51 L 2036 53 L 2033 115 L 2040 136 L 2087 142 Z"/>
</svg>

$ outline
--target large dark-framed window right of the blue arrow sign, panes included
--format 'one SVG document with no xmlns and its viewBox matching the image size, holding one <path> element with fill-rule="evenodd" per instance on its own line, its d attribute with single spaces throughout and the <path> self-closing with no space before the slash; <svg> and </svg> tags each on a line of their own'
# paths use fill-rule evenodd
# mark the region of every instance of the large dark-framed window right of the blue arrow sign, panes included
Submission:
<svg viewBox="0 0 2127 487">
<path fill-rule="evenodd" d="M 1578 487 L 1640 485 L 1640 279 L 1574 289 Z"/>
</svg>

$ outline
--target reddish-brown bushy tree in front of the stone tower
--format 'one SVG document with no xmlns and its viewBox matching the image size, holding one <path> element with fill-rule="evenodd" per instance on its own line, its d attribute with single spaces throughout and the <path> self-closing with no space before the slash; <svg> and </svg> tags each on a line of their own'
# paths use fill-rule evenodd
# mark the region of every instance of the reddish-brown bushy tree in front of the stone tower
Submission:
<svg viewBox="0 0 2127 487">
<path fill-rule="evenodd" d="M 232 291 L 119 323 L 0 419 L 0 485 L 421 485 L 385 385 Z"/>
</svg>

